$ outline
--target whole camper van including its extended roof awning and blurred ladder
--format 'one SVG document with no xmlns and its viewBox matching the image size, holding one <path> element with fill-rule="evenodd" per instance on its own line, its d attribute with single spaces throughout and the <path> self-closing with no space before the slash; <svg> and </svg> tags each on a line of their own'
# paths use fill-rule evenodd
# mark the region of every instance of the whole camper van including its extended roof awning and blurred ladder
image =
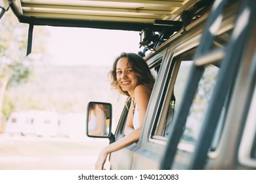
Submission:
<svg viewBox="0 0 256 183">
<path fill-rule="evenodd" d="M 5 2 L 30 25 L 28 53 L 37 25 L 140 34 L 156 83 L 139 141 L 110 169 L 256 169 L 256 1 Z M 129 103 L 114 133 L 109 110 L 108 135 L 92 138 L 122 139 Z"/>
</svg>

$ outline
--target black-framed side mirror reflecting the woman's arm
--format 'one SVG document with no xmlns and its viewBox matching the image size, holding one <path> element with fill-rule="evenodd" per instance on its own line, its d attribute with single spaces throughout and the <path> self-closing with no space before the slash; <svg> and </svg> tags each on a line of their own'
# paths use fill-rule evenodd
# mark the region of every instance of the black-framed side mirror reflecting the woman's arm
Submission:
<svg viewBox="0 0 256 183">
<path fill-rule="evenodd" d="M 91 101 L 87 105 L 86 135 L 88 137 L 108 138 L 110 143 L 115 141 L 111 133 L 112 105 Z"/>
</svg>

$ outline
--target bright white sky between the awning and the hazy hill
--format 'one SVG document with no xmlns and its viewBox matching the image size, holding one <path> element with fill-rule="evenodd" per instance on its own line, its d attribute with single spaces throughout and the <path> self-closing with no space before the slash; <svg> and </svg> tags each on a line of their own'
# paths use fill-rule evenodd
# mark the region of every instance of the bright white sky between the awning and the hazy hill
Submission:
<svg viewBox="0 0 256 183">
<path fill-rule="evenodd" d="M 112 65 L 121 52 L 142 50 L 136 31 L 74 27 L 47 27 L 47 31 L 48 61 L 54 65 Z"/>
</svg>

